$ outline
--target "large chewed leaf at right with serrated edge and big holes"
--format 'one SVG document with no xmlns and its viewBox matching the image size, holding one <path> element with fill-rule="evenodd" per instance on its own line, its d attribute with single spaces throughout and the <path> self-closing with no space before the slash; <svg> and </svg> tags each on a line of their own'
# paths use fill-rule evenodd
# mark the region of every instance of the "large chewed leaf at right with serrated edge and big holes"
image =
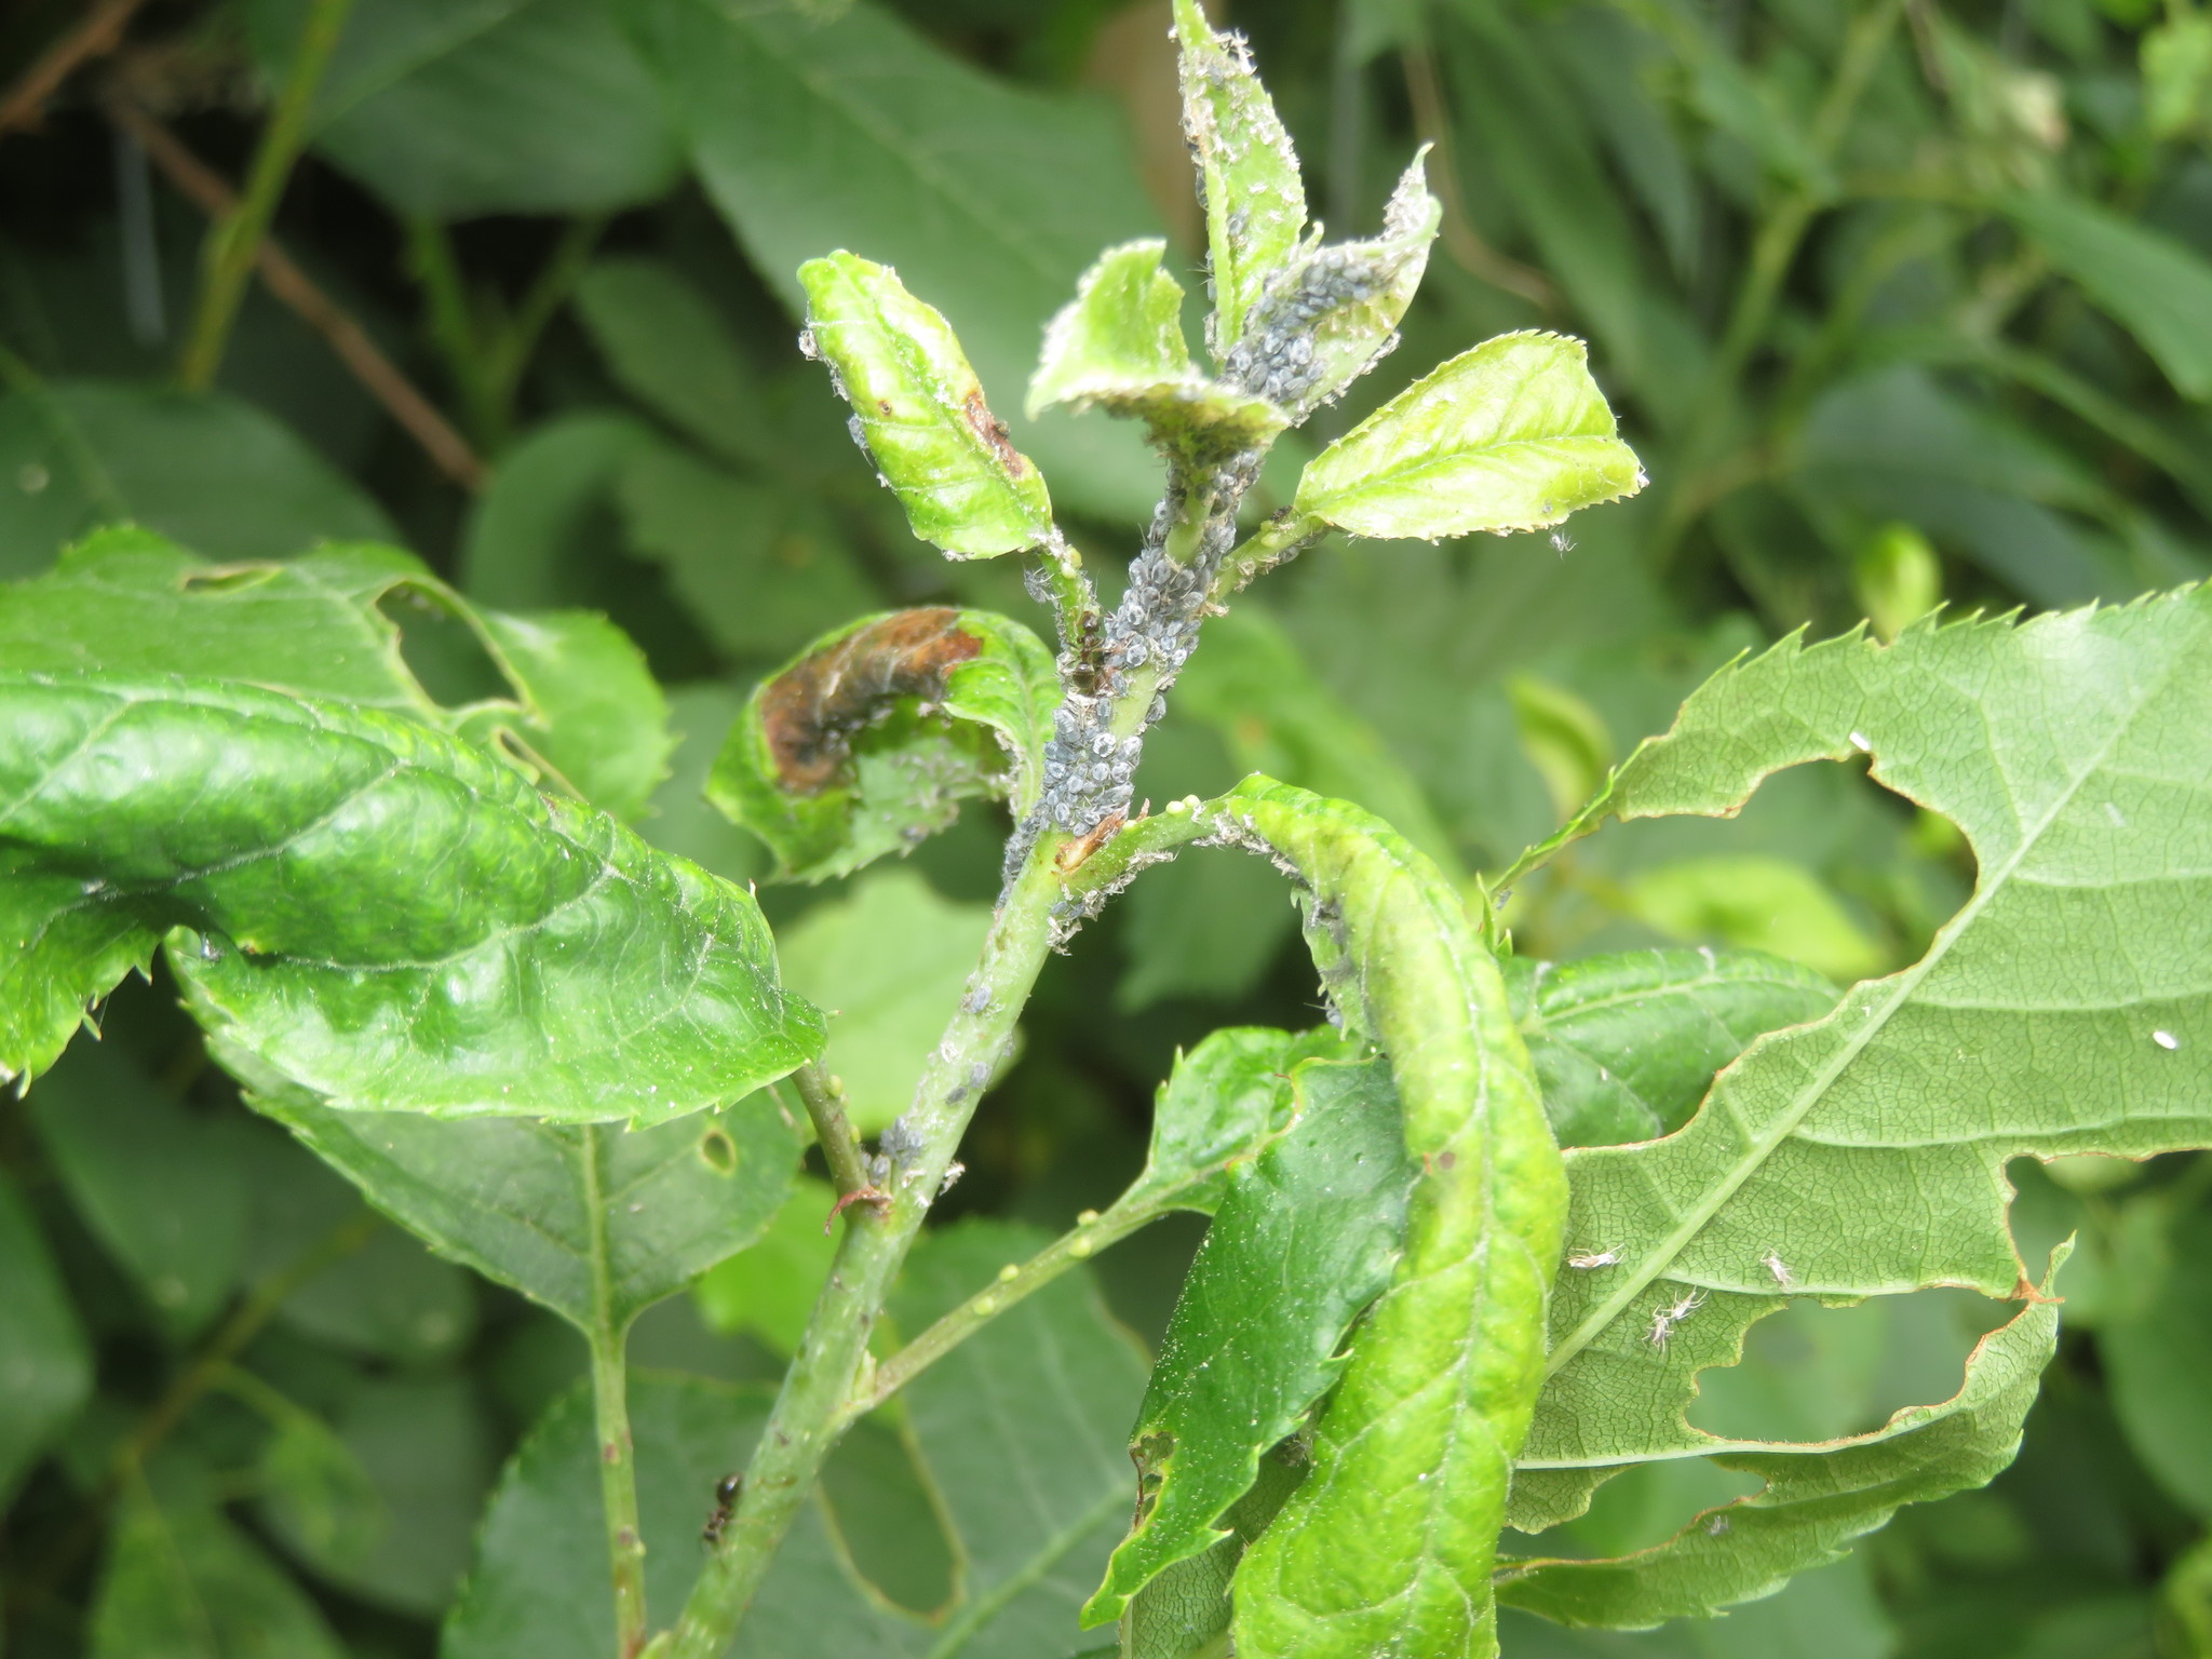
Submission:
<svg viewBox="0 0 2212 1659">
<path fill-rule="evenodd" d="M 1697 1371 L 1790 1292 L 2022 1294 L 2006 1159 L 2212 1135 L 2212 960 L 2170 925 L 2212 867 L 2190 807 L 2208 648 L 2205 588 L 1891 646 L 1790 639 L 1708 681 L 1562 832 L 1725 816 L 1778 768 L 1871 754 L 1980 874 L 1920 962 L 1754 1042 L 1683 1130 L 1568 1155 L 1568 1250 L 1610 1261 L 1553 1298 L 1517 1526 L 1582 1513 L 1630 1462 L 1736 1449 L 1688 1425 Z"/>
</svg>

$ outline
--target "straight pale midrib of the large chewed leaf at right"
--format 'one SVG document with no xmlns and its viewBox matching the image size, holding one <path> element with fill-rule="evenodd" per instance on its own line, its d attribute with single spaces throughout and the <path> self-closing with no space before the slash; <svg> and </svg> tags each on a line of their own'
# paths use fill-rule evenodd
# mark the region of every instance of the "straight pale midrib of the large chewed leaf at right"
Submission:
<svg viewBox="0 0 2212 1659">
<path fill-rule="evenodd" d="M 1856 1062 L 1860 1053 L 1865 1053 L 1867 1044 L 1874 1042 L 1874 1037 L 1889 1026 L 1891 1015 L 1911 998 L 1911 993 L 1920 987 L 1920 982 L 1927 980 L 1929 973 L 1933 973 L 1936 967 L 1951 953 L 1951 947 L 1973 929 L 1975 920 L 1991 905 L 1991 900 L 2004 889 L 2004 885 L 2013 878 L 2022 860 L 2042 843 L 2044 834 L 2051 830 L 2057 816 L 2081 792 L 2081 785 L 2104 770 L 2106 759 L 2112 754 L 2119 741 L 2135 730 L 2135 723 L 2143 717 L 2143 710 L 2150 708 L 2166 690 L 2166 686 L 2172 681 L 2183 655 L 2185 653 L 2177 650 L 2172 657 L 2168 657 L 2166 668 L 2150 684 L 2146 684 L 2135 706 L 2128 710 L 2128 717 L 2124 721 L 2115 721 L 2112 730 L 2106 734 L 2106 741 L 2097 745 L 2097 752 L 2081 765 L 2079 772 L 2075 772 L 2066 781 L 2066 787 L 2053 796 L 2051 805 L 2035 821 L 2035 825 L 2020 836 L 2013 852 L 2004 858 L 2002 865 L 1995 867 L 1995 874 L 1989 874 L 1982 880 L 1982 885 L 1975 887 L 1973 898 L 1969 898 L 1960 907 L 1958 916 L 1953 916 L 1951 922 L 1942 929 L 1942 933 L 1936 936 L 1936 945 L 1929 949 L 1929 953 L 1896 975 L 1896 980 L 1891 982 L 1891 993 L 1882 1002 L 1867 1006 L 1867 1013 L 1860 1020 L 1860 1029 L 1843 1040 L 1843 1044 L 1827 1060 L 1827 1064 L 1823 1064 L 1820 1071 L 1814 1073 L 1814 1077 L 1796 1093 L 1787 1110 L 1776 1115 L 1772 1128 L 1752 1141 L 1752 1150 L 1736 1161 L 1736 1168 L 1730 1170 L 1728 1177 L 1714 1186 L 1712 1194 L 1703 1203 L 1699 1203 L 1666 1239 L 1659 1241 L 1659 1245 L 1646 1256 L 1646 1261 L 1635 1272 L 1628 1274 L 1628 1279 L 1621 1283 L 1619 1290 L 1615 1290 L 1597 1307 L 1593 1307 L 1590 1314 L 1551 1349 L 1551 1354 L 1544 1360 L 1546 1383 L 1553 1376 L 1557 1376 L 1559 1369 L 1568 1360 L 1573 1360 L 1584 1347 L 1588 1347 L 1599 1336 L 1599 1332 L 1610 1327 L 1613 1321 L 1617 1321 L 1621 1312 L 1637 1296 L 1641 1296 L 1644 1290 L 1655 1279 L 1659 1279 L 1666 1272 L 1666 1267 L 1674 1263 L 1677 1256 L 1681 1256 L 1681 1252 L 1690 1245 L 1690 1241 L 1705 1230 L 1705 1225 L 1721 1212 L 1721 1206 L 1725 1206 L 1743 1188 L 1743 1183 L 1750 1181 L 1752 1175 L 1774 1155 L 1774 1150 L 1796 1133 L 1798 1124 L 1805 1121 L 1812 1108 L 1820 1099 L 1825 1099 L 1836 1077 L 1840 1077 L 1843 1071 L 1851 1062 Z M 1838 1020 L 1847 1006 L 1849 1006 L 1849 993 L 1845 995 L 1845 1004 L 1832 1009 L 1823 1018 L 1823 1024 Z M 1765 1046 L 1765 1042 L 1767 1042 L 1765 1037 L 1754 1042 L 1745 1051 L 1745 1055 L 1732 1062 L 1721 1075 L 1725 1077 L 1728 1071 L 1741 1066 L 1743 1060 L 1759 1053 Z M 1714 1079 L 1714 1091 L 1717 1088 L 1719 1079 Z M 1705 1102 L 1699 1104 L 1697 1113 L 1699 1117 L 1703 1117 L 1705 1106 L 1712 1104 L 1714 1091 L 1708 1091 Z M 1568 1168 L 1568 1179 L 1573 1181 L 1573 1168 Z"/>
</svg>

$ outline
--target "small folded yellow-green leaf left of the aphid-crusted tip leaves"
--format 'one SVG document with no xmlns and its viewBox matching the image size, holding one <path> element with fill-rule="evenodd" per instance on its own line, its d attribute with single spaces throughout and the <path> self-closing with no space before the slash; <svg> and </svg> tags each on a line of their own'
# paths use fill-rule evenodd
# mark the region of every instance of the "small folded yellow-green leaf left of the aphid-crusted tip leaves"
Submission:
<svg viewBox="0 0 2212 1659">
<path fill-rule="evenodd" d="M 1199 374 L 1183 341 L 1183 290 L 1159 268 L 1164 241 L 1108 248 L 1044 330 L 1026 414 L 1099 405 L 1141 418 L 1181 453 L 1250 449 L 1290 425 L 1274 405 Z"/>
</svg>

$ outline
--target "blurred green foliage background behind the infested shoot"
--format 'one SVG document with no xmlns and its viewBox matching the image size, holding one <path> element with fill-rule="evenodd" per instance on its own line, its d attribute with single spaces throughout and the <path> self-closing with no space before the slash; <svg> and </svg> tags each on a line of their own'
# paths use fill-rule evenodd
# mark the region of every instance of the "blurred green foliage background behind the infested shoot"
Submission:
<svg viewBox="0 0 2212 1659">
<path fill-rule="evenodd" d="M 131 518 L 215 560 L 389 540 L 487 604 L 606 611 L 681 739 L 639 827 L 745 880 L 765 860 L 697 792 L 761 672 L 869 608 L 1031 615 L 1018 573 L 905 531 L 794 347 L 794 268 L 852 248 L 949 314 L 1113 584 L 1157 487 L 1141 445 L 1018 411 L 1044 319 L 1104 243 L 1166 232 L 1199 261 L 1164 2 L 356 0 L 274 219 L 285 268 L 248 290 L 212 385 L 181 389 L 210 208 L 310 11 L 24 0 L 0 20 L 9 80 L 113 24 L 0 111 L 0 577 Z M 1471 878 L 1743 648 L 2212 568 L 2201 0 L 1237 0 L 1217 18 L 1250 35 L 1334 234 L 1376 221 L 1416 144 L 1447 204 L 1400 352 L 1301 453 L 1409 374 L 1535 325 L 1590 341 L 1652 487 L 1568 538 L 1307 553 L 1210 624 L 1139 794 L 1267 770 Z M 436 619 L 405 624 L 422 672 L 467 695 L 484 664 Z M 832 1064 L 869 1128 L 973 960 L 1002 832 L 971 812 L 907 865 L 761 894 L 790 982 L 838 1011 Z M 1971 876 L 1949 825 L 1823 765 L 1734 823 L 1586 843 L 1509 916 L 1533 956 L 1732 942 L 1851 980 L 1913 960 Z M 1316 1006 L 1263 865 L 1150 876 L 1048 971 L 949 1208 L 1066 1225 L 1135 1172 L 1179 1044 Z M 582 1347 L 246 1113 L 164 989 L 117 995 L 106 1029 L 0 1104 L 7 1650 L 137 1652 L 100 1604 L 102 1528 L 153 1493 L 243 1528 L 226 1582 L 290 1608 L 270 1628 L 434 1652 L 493 1473 Z M 1509 1619 L 1509 1652 L 2212 1655 L 2205 1168 L 2015 1170 L 2028 1259 L 2075 1230 L 2084 1252 L 2024 1453 L 1991 1491 L 1905 1511 L 1732 1619 L 1639 1637 Z M 825 1206 L 810 1190 L 650 1314 L 637 1363 L 772 1378 Z M 1102 1263 L 1141 1338 L 1194 1239 L 1164 1225 Z M 1745 1365 L 1708 1374 L 1699 1420 L 1807 1438 L 1942 1398 L 1993 1323 L 1947 1296 L 1770 1321 Z M 856 1440 L 832 1502 L 896 1455 Z M 1657 1540 L 1710 1498 L 1624 1478 L 1579 1542 Z M 931 1524 L 916 1498 L 852 1537 L 902 1606 L 942 1599 Z"/>
</svg>

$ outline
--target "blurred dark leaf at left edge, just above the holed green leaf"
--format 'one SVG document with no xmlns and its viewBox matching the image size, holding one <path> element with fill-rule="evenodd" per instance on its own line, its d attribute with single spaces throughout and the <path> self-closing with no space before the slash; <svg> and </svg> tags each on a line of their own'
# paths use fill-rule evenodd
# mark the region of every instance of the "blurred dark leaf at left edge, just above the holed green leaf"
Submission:
<svg viewBox="0 0 2212 1659">
<path fill-rule="evenodd" d="M 69 380 L 0 400 L 0 575 L 33 575 L 95 524 L 135 520 L 217 560 L 392 522 L 288 427 L 219 392 Z"/>
</svg>

